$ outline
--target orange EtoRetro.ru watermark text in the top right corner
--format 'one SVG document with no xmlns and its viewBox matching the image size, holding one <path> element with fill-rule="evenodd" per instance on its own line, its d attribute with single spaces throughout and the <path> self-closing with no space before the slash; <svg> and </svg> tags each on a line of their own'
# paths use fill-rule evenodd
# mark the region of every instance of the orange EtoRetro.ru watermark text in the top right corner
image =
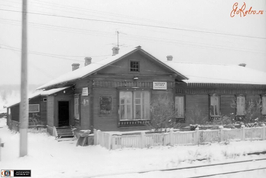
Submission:
<svg viewBox="0 0 266 178">
<path fill-rule="evenodd" d="M 263 14 L 264 11 L 259 10 L 252 10 L 252 6 L 249 8 L 249 10 L 246 10 L 246 3 L 244 2 L 243 6 L 241 8 L 238 7 L 238 3 L 236 2 L 233 5 L 233 10 L 231 11 L 231 17 L 234 17 L 236 14 L 240 15 L 240 17 L 245 17 L 247 14 Z"/>
</svg>

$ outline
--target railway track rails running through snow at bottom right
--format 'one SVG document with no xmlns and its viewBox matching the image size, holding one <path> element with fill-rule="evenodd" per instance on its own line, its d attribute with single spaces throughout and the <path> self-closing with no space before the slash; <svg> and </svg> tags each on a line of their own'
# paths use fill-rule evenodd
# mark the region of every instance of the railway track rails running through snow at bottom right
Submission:
<svg viewBox="0 0 266 178">
<path fill-rule="evenodd" d="M 135 173 L 147 173 L 147 172 L 154 172 L 154 171 L 175 171 L 175 170 L 182 170 L 182 169 L 194 169 L 194 168 L 201 168 L 201 167 L 210 167 L 212 169 L 212 166 L 219 166 L 219 165 L 228 165 L 228 164 L 237 164 L 237 163 L 244 163 L 244 162 L 252 162 L 252 161 L 262 161 L 266 160 L 266 158 L 261 159 L 252 159 L 252 160 L 243 160 L 243 161 L 233 161 L 233 162 L 224 162 L 224 163 L 216 163 L 216 164 L 205 164 L 205 165 L 198 165 L 198 166 L 187 166 L 187 167 L 179 167 L 179 168 L 170 168 L 170 169 L 154 169 L 154 170 L 145 170 L 145 171 L 139 171 L 139 172 L 122 172 L 122 173 L 113 173 L 113 174 L 98 174 L 93 176 L 88 176 L 86 178 L 90 177 L 107 177 L 107 176 L 121 176 L 123 174 L 135 174 Z M 186 177 L 186 178 L 198 178 L 198 177 L 208 177 L 208 176 L 215 176 L 215 175 L 222 175 L 222 174 L 233 174 L 238 172 L 247 172 L 247 171 L 254 171 L 259 169 L 266 169 L 265 167 L 262 168 L 256 168 L 256 169 L 246 169 L 246 170 L 239 170 L 239 171 L 231 171 L 231 172 L 222 172 L 222 173 L 215 173 L 215 174 L 206 174 L 206 175 L 199 175 L 199 176 L 192 176 L 192 177 Z"/>
</svg>

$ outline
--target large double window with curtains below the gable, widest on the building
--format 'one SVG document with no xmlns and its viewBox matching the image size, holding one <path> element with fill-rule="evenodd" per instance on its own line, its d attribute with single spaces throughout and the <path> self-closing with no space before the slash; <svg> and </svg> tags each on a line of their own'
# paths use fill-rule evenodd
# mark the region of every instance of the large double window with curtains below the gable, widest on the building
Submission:
<svg viewBox="0 0 266 178">
<path fill-rule="evenodd" d="M 119 110 L 120 120 L 150 119 L 150 92 L 119 92 Z"/>
</svg>

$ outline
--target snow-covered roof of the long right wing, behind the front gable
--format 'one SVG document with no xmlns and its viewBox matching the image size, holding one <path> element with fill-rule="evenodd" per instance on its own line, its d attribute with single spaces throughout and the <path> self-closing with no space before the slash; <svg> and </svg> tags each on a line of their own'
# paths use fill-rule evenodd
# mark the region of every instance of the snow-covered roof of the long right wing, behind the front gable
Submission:
<svg viewBox="0 0 266 178">
<path fill-rule="evenodd" d="M 248 67 L 175 61 L 164 63 L 189 78 L 183 80 L 186 83 L 266 84 L 266 72 Z"/>
</svg>

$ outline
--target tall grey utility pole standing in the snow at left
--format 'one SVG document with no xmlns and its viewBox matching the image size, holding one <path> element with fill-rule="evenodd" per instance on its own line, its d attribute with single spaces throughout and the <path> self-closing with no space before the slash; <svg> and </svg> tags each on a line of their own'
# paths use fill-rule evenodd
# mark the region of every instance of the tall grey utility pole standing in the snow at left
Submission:
<svg viewBox="0 0 266 178">
<path fill-rule="evenodd" d="M 27 0 L 22 1 L 22 48 L 20 85 L 20 157 L 27 155 L 29 101 L 27 97 Z"/>
</svg>

